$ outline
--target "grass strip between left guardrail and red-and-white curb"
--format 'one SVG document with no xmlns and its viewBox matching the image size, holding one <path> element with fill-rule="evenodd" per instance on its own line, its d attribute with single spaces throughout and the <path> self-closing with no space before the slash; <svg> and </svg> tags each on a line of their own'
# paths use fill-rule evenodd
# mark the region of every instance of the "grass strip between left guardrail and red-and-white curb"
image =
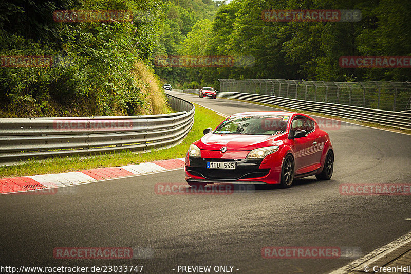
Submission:
<svg viewBox="0 0 411 274">
<path fill-rule="evenodd" d="M 133 165 L 142 162 L 166 160 L 185 157 L 189 145 L 200 139 L 203 129 L 216 127 L 225 118 L 195 104 L 194 124 L 185 139 L 175 147 L 152 151 L 150 153 L 136 153 L 124 151 L 89 157 L 72 156 L 66 158 L 50 158 L 41 161 L 29 161 L 10 167 L 0 167 L 0 178 L 21 177 L 38 174 L 62 173 L 84 169 L 118 167 Z"/>
</svg>

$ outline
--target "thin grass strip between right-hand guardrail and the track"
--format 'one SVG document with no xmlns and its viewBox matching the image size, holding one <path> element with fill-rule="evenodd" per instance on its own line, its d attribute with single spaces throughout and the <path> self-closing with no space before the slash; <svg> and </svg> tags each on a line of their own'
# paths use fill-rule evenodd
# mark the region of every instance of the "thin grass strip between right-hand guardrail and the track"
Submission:
<svg viewBox="0 0 411 274">
<path fill-rule="evenodd" d="M 375 127 L 376 129 L 382 129 L 382 130 L 400 132 L 400 133 L 405 133 L 405 134 L 411 134 L 410 130 L 402 130 L 402 129 L 397 129 L 396 127 L 381 125 L 381 124 L 377 124 L 377 123 L 371 123 L 371 122 L 364 122 L 364 121 L 360 121 L 360 120 L 341 118 L 339 116 L 332 116 L 332 115 L 319 113 L 319 112 L 300 111 L 298 109 L 292 109 L 292 108 L 282 107 L 282 106 L 278 106 L 278 105 L 265 104 L 265 103 L 247 101 L 247 100 L 233 99 L 233 98 L 225 98 L 225 99 L 233 100 L 233 101 L 239 101 L 239 102 L 252 103 L 252 104 L 257 104 L 257 105 L 265 105 L 265 106 L 274 107 L 274 108 L 277 108 L 277 109 L 284 109 L 285 111 L 290 111 L 290 112 L 303 112 L 303 113 L 308 114 L 308 115 L 320 116 L 320 117 L 339 120 L 339 121 L 342 121 L 342 122 L 348 122 L 348 123 L 353 123 L 353 124 L 358 124 L 358 125 Z"/>
</svg>

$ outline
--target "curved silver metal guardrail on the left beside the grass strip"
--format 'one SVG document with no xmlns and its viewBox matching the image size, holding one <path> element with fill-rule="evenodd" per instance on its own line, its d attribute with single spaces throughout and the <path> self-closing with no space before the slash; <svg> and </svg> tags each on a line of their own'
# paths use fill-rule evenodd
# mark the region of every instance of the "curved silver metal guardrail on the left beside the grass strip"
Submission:
<svg viewBox="0 0 411 274">
<path fill-rule="evenodd" d="M 192 103 L 166 94 L 176 113 L 140 116 L 0 118 L 0 165 L 53 156 L 150 151 L 179 143 L 194 123 Z"/>
</svg>

